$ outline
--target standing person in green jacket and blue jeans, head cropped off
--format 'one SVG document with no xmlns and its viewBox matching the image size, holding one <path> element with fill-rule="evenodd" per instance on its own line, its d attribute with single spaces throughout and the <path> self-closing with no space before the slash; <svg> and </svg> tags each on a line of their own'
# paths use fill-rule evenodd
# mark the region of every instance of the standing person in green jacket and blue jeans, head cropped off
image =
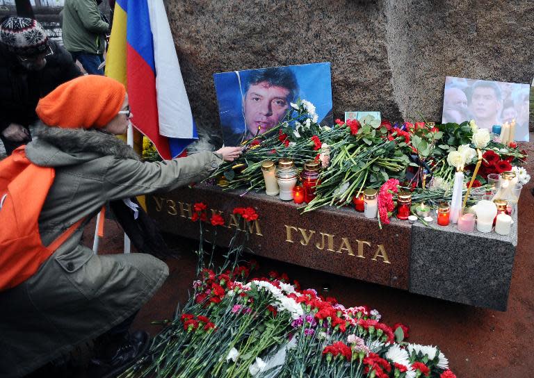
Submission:
<svg viewBox="0 0 534 378">
<path fill-rule="evenodd" d="M 102 0 L 65 0 L 63 44 L 88 74 L 103 75 L 109 24 L 98 9 Z"/>
</svg>

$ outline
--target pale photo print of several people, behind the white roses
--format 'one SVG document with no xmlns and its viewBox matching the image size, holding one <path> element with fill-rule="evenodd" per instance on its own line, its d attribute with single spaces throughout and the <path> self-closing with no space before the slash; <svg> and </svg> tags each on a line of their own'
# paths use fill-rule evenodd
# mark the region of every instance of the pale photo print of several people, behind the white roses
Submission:
<svg viewBox="0 0 534 378">
<path fill-rule="evenodd" d="M 528 142 L 531 86 L 446 76 L 442 123 L 475 120 L 480 129 L 515 120 L 515 140 Z"/>
</svg>

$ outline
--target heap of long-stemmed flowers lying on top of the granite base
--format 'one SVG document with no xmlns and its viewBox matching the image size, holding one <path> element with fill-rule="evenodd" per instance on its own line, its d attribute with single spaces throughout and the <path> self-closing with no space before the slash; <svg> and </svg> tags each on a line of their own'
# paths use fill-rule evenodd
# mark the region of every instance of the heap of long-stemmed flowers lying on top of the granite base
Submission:
<svg viewBox="0 0 534 378">
<path fill-rule="evenodd" d="M 350 204 L 364 188 L 380 189 L 390 179 L 414 193 L 412 203 L 423 199 L 434 206 L 451 200 L 454 172 L 460 166 L 466 183 L 471 180 L 477 160 L 475 149 L 483 154 L 483 168 L 474 186 L 485 185 L 487 174 L 521 170 L 519 165 L 526 159 L 515 142 L 503 145 L 496 135 L 478 129 L 473 121 L 391 124 L 367 116 L 360 121 L 336 120 L 332 127 L 321 126 L 314 106 L 305 100 L 291 104 L 280 124 L 244 145 L 243 155 L 221 165 L 211 179 L 218 178 L 219 185 L 229 189 L 259 190 L 264 188 L 263 161 L 292 158 L 302 168 L 305 161 L 316 159 L 323 170 L 316 197 L 305 205 L 304 212 Z M 527 182 L 530 177 L 522 174 L 521 182 Z"/>
</svg>

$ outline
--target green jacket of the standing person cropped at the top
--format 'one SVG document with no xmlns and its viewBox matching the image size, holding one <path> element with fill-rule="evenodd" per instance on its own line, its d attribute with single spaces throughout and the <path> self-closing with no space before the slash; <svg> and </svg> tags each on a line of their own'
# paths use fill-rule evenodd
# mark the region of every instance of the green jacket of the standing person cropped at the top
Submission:
<svg viewBox="0 0 534 378">
<path fill-rule="evenodd" d="M 108 28 L 95 0 L 65 0 L 63 44 L 67 51 L 104 54 Z"/>
</svg>

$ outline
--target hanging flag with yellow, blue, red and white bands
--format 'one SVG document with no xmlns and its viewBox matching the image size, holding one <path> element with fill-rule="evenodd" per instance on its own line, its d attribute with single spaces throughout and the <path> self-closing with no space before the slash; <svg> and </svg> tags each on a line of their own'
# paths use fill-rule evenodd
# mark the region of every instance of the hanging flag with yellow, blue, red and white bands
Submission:
<svg viewBox="0 0 534 378">
<path fill-rule="evenodd" d="M 117 0 L 106 76 L 127 88 L 132 124 L 164 159 L 198 138 L 162 0 Z"/>
</svg>

